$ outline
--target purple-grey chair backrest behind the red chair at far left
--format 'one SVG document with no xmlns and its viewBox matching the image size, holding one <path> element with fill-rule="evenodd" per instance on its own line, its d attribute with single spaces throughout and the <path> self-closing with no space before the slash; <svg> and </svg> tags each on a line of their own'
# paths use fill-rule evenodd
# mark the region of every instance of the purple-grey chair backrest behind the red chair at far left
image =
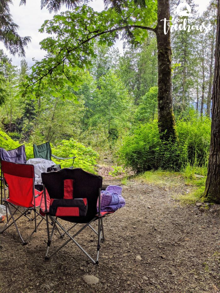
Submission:
<svg viewBox="0 0 220 293">
<path fill-rule="evenodd" d="M 5 150 L 0 148 L 0 158 L 13 163 L 26 164 L 25 145 L 19 146 L 17 149 Z"/>
</svg>

